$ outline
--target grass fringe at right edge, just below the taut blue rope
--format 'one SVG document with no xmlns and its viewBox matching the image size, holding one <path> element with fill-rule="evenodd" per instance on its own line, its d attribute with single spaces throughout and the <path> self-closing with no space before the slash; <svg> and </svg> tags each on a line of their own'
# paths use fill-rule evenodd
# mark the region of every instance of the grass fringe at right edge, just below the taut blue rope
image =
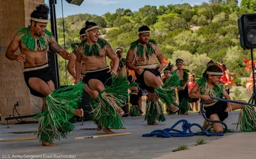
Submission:
<svg viewBox="0 0 256 159">
<path fill-rule="evenodd" d="M 256 132 L 255 107 L 247 106 L 244 109 L 241 109 L 238 123 L 241 126 L 241 132 Z"/>
</svg>

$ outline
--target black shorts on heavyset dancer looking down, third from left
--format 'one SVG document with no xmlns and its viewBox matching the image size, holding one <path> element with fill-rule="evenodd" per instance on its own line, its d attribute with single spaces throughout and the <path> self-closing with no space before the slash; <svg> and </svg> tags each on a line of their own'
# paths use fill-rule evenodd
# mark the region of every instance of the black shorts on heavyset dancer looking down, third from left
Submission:
<svg viewBox="0 0 256 159">
<path fill-rule="evenodd" d="M 151 72 L 153 73 L 154 75 L 159 76 L 161 77 L 161 73 L 159 71 L 157 71 L 158 68 L 155 68 L 155 69 L 149 69 L 149 68 L 143 68 L 144 72 L 141 73 L 141 75 L 139 75 L 137 72 L 135 72 L 135 75 L 136 75 L 136 78 L 138 79 L 138 81 L 140 82 L 141 84 L 141 88 L 142 89 L 146 89 L 148 92 L 150 93 L 154 93 L 154 87 L 149 87 L 145 84 L 145 80 L 144 80 L 144 73 L 145 71 L 148 71 L 148 72 Z"/>
</svg>

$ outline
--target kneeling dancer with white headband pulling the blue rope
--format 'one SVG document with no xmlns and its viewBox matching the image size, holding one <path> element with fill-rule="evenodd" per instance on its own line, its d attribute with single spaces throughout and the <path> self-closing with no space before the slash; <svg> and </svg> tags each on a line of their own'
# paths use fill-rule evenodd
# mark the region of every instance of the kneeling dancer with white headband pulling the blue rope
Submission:
<svg viewBox="0 0 256 159">
<path fill-rule="evenodd" d="M 197 81 L 197 84 L 189 93 L 190 98 L 201 98 L 204 100 L 205 115 L 210 120 L 224 121 L 224 119 L 228 117 L 228 112 L 246 107 L 246 105 L 237 103 L 211 100 L 210 96 L 217 98 L 223 98 L 223 96 L 225 96 L 227 100 L 231 100 L 225 90 L 225 87 L 220 82 L 222 75 L 223 72 L 219 66 L 209 66 L 203 74 L 203 77 Z M 200 94 L 198 94 L 198 90 L 200 91 Z M 253 114 L 252 115 L 255 119 L 255 110 Z M 207 121 L 204 122 L 204 125 L 206 123 Z M 220 123 L 212 123 L 212 127 L 214 128 L 214 132 L 223 132 L 223 128 Z"/>
</svg>

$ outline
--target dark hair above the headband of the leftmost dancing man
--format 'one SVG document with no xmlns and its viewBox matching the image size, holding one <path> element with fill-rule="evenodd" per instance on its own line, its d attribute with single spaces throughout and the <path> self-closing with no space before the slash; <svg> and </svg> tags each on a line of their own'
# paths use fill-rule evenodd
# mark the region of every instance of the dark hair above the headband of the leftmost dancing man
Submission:
<svg viewBox="0 0 256 159">
<path fill-rule="evenodd" d="M 36 10 L 34 10 L 30 17 L 35 19 L 44 19 L 48 20 L 48 14 L 49 14 L 49 7 L 45 4 L 39 4 L 36 6 Z M 30 20 L 32 22 L 33 20 Z"/>
</svg>

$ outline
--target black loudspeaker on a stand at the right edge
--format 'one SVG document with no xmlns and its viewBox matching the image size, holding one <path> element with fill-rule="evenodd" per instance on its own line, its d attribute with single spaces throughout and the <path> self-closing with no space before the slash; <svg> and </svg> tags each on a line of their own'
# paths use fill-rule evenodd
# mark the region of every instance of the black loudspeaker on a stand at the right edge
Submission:
<svg viewBox="0 0 256 159">
<path fill-rule="evenodd" d="M 256 48 L 256 14 L 244 14 L 237 22 L 241 47 L 244 50 Z"/>
</svg>

